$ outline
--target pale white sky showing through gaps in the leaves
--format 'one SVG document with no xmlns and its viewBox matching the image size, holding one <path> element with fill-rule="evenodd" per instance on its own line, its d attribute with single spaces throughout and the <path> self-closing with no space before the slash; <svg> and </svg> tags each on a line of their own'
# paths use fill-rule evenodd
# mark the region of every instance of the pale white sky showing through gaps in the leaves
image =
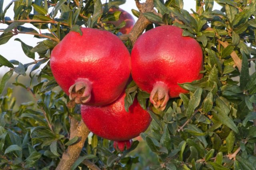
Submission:
<svg viewBox="0 0 256 170">
<path fill-rule="evenodd" d="M 145 2 L 146 0 L 141 0 L 140 2 Z M 7 4 L 10 2 L 10 0 L 4 1 L 4 8 L 7 6 Z M 102 0 L 102 3 L 105 3 L 106 0 Z M 184 9 L 188 12 L 192 13 L 190 9 L 193 9 L 196 11 L 196 0 L 183 0 L 184 2 Z M 13 12 L 13 4 L 10 6 L 9 10 L 6 12 L 6 16 L 10 17 L 13 20 L 14 12 Z M 220 9 L 221 6 L 219 6 L 217 3 L 214 3 L 214 9 Z M 120 8 L 123 10 L 129 12 L 132 14 L 132 9 L 137 9 L 135 1 L 134 0 L 126 0 L 126 3 L 121 5 Z M 134 17 L 135 20 L 137 20 L 136 17 Z M 25 27 L 34 28 L 32 24 L 24 24 Z M 6 24 L 0 24 L 0 29 L 7 28 Z M 42 31 L 43 32 L 43 31 Z M 0 33 L 1 34 L 1 33 Z M 24 52 L 22 51 L 21 43 L 18 41 L 14 41 L 15 38 L 19 38 L 27 45 L 30 45 L 32 47 L 36 46 L 37 42 L 42 41 L 43 39 L 33 38 L 33 35 L 28 34 L 18 34 L 16 36 L 13 36 L 8 43 L 5 43 L 3 45 L 0 45 L 0 55 L 4 56 L 6 59 L 11 60 L 15 59 L 20 61 L 22 64 L 32 62 L 33 59 L 28 58 Z M 38 59 L 38 55 L 36 54 L 36 59 Z M 33 67 L 30 66 L 28 70 Z M 42 68 L 42 66 L 40 67 Z M 3 75 L 6 71 L 8 71 L 8 67 L 0 67 L 0 74 Z"/>
</svg>

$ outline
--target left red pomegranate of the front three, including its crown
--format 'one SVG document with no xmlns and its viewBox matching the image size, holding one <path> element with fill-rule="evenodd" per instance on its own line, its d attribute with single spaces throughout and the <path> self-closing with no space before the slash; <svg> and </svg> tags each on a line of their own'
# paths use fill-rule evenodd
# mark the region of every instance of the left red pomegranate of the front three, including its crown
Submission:
<svg viewBox="0 0 256 170">
<path fill-rule="evenodd" d="M 114 34 L 93 28 L 68 33 L 54 47 L 50 66 L 56 82 L 75 103 L 107 105 L 130 76 L 130 53 Z"/>
</svg>

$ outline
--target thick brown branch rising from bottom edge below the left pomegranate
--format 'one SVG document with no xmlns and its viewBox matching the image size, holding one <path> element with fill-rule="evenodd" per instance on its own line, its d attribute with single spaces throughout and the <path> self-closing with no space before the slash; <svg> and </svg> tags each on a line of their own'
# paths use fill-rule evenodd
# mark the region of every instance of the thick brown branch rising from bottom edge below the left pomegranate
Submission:
<svg viewBox="0 0 256 170">
<path fill-rule="evenodd" d="M 75 136 L 80 138 L 80 141 L 76 144 L 68 146 L 66 151 L 63 153 L 62 158 L 56 168 L 56 170 L 70 170 L 74 162 L 78 159 L 82 148 L 84 147 L 84 142 L 90 133 L 89 129 L 84 125 L 83 121 L 80 123 L 74 119 L 70 118 L 70 138 L 72 139 Z"/>
</svg>

